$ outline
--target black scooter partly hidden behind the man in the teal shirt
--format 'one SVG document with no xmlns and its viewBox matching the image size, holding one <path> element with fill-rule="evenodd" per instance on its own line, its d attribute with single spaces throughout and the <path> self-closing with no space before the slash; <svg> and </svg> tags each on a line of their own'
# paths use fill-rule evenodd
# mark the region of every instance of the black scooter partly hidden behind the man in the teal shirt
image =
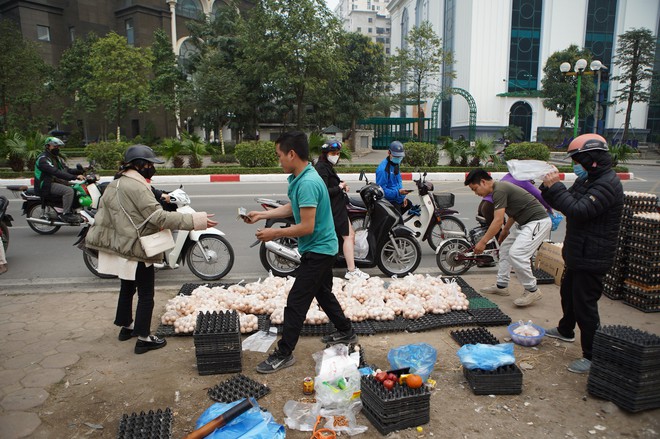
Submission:
<svg viewBox="0 0 660 439">
<path fill-rule="evenodd" d="M 365 177 L 360 174 L 360 180 Z M 359 191 L 367 208 L 363 225 L 367 231 L 368 251 L 365 257 L 356 254 L 355 265 L 360 268 L 378 268 L 388 276 L 405 276 L 413 272 L 422 260 L 422 250 L 413 231 L 404 226 L 398 210 L 383 198 L 383 190 L 368 183 Z M 273 219 L 266 227 L 289 227 L 290 219 Z M 260 241 L 253 244 L 257 245 Z M 356 249 L 357 250 L 357 249 Z M 298 242 L 295 238 L 281 238 L 261 243 L 261 263 L 275 276 L 292 275 L 300 265 Z M 341 251 L 335 267 L 346 266 Z"/>
</svg>

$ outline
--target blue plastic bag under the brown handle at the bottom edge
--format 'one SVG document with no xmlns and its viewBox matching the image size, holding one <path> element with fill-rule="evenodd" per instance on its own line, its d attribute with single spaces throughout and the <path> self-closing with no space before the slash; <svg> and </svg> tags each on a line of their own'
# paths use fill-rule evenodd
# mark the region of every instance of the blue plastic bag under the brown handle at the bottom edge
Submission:
<svg viewBox="0 0 660 439">
<path fill-rule="evenodd" d="M 252 398 L 251 398 L 252 399 Z M 228 404 L 217 402 L 207 408 L 197 419 L 195 429 L 208 424 L 236 404 L 243 401 L 230 402 Z M 273 415 L 269 412 L 263 412 L 259 408 L 257 401 L 252 399 L 250 410 L 232 419 L 224 427 L 215 430 L 207 436 L 211 439 L 284 439 L 286 432 L 284 426 L 275 422 Z"/>
</svg>

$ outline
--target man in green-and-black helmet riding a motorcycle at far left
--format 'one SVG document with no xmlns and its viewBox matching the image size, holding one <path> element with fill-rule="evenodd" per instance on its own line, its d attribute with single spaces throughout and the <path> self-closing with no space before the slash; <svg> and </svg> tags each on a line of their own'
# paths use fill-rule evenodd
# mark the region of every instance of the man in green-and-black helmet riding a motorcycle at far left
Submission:
<svg viewBox="0 0 660 439">
<path fill-rule="evenodd" d="M 60 158 L 60 146 L 64 145 L 57 137 L 48 137 L 44 142 L 45 150 L 34 166 L 34 192 L 42 199 L 51 195 L 62 197 L 62 215 L 60 219 L 67 223 L 79 223 L 80 217 L 71 211 L 75 190 L 69 186 L 70 180 L 84 180 L 82 169 L 67 168 Z"/>
</svg>

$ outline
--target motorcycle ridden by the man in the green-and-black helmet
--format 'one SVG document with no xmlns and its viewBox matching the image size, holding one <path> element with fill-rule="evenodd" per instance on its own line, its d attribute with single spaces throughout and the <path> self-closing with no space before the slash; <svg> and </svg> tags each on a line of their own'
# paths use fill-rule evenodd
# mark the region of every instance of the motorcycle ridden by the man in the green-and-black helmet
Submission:
<svg viewBox="0 0 660 439">
<path fill-rule="evenodd" d="M 78 165 L 82 168 L 80 165 Z M 76 191 L 73 198 L 72 210 L 74 213 L 81 214 L 90 209 L 96 209 L 103 190 L 108 183 L 97 183 L 99 176 L 94 169 L 94 163 L 90 163 L 85 170 L 85 180 L 75 183 L 71 187 Z M 69 223 L 60 219 L 62 214 L 61 197 L 42 198 L 34 192 L 33 187 L 24 185 L 7 186 L 7 189 L 20 196 L 23 201 L 23 215 L 27 218 L 28 226 L 40 235 L 52 235 L 62 226 L 78 227 L 87 219 L 81 215 L 81 223 Z"/>
</svg>

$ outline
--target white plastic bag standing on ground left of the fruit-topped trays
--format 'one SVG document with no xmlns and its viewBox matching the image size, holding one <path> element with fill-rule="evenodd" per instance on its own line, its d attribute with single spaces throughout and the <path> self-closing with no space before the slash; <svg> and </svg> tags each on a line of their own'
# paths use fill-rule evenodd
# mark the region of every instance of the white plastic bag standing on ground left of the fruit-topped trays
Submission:
<svg viewBox="0 0 660 439">
<path fill-rule="evenodd" d="M 360 398 L 360 372 L 355 359 L 348 355 L 348 346 L 334 345 L 312 358 L 316 361 L 316 400 L 323 408 L 347 406 Z"/>
</svg>

